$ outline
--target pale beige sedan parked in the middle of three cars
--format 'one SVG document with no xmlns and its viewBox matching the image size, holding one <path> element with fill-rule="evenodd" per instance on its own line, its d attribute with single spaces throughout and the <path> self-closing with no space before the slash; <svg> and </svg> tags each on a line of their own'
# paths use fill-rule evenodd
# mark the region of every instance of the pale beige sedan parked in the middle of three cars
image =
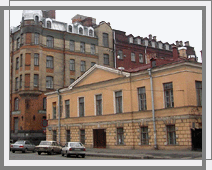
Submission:
<svg viewBox="0 0 212 170">
<path fill-rule="evenodd" d="M 57 144 L 56 141 L 41 141 L 38 146 L 35 147 L 36 152 L 40 155 L 42 152 L 48 155 L 53 155 L 54 153 L 61 153 L 62 147 Z"/>
</svg>

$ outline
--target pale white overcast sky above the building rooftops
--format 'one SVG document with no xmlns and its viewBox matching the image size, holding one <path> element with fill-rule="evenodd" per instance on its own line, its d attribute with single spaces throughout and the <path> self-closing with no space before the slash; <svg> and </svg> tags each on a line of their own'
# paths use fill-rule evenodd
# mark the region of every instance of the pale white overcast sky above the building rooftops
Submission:
<svg viewBox="0 0 212 170">
<path fill-rule="evenodd" d="M 198 61 L 202 50 L 201 10 L 56 10 L 56 20 L 71 23 L 81 14 L 96 18 L 96 23 L 110 22 L 112 29 L 132 34 L 134 37 L 156 36 L 157 41 L 169 44 L 189 41 Z M 10 26 L 20 25 L 22 10 L 10 10 Z"/>
</svg>

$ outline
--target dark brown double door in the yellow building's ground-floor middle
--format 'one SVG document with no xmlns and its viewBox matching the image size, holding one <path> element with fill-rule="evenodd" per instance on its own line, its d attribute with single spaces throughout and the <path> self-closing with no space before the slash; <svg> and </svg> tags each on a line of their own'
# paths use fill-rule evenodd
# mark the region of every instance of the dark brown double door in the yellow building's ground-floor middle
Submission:
<svg viewBox="0 0 212 170">
<path fill-rule="evenodd" d="M 93 130 L 94 148 L 106 148 L 106 132 L 105 129 Z"/>
</svg>

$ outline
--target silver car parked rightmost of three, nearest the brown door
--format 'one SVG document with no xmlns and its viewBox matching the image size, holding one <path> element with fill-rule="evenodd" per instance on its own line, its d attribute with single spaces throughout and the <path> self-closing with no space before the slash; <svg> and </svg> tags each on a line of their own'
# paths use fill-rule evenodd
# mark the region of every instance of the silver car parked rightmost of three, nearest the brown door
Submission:
<svg viewBox="0 0 212 170">
<path fill-rule="evenodd" d="M 85 146 L 81 142 L 67 142 L 62 148 L 61 154 L 66 157 L 70 155 L 76 155 L 78 157 L 81 155 L 84 158 L 85 152 Z"/>
</svg>

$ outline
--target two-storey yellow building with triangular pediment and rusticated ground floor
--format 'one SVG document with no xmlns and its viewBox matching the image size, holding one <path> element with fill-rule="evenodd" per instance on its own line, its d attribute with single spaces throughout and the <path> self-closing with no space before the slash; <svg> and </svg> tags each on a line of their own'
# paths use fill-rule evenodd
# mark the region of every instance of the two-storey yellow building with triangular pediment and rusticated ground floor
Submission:
<svg viewBox="0 0 212 170">
<path fill-rule="evenodd" d="M 88 148 L 201 148 L 201 93 L 197 62 L 137 72 L 94 65 L 68 88 L 46 94 L 46 139 Z"/>
</svg>

